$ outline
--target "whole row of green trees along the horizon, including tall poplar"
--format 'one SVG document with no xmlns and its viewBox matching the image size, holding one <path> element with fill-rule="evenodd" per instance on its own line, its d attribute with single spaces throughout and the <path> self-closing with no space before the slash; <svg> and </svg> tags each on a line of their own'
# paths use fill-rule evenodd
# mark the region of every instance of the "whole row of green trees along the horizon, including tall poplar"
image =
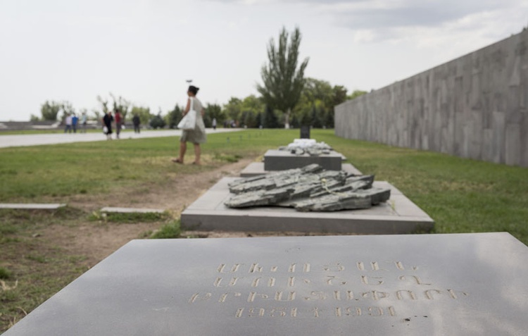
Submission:
<svg viewBox="0 0 528 336">
<path fill-rule="evenodd" d="M 354 99 L 365 91 L 355 90 L 348 94 L 343 85 L 331 85 L 325 80 L 304 77 L 308 58 L 298 63 L 301 32 L 296 27 L 291 35 L 283 27 L 278 44 L 270 39 L 268 44 L 268 63 L 260 71 L 263 84 L 256 89 L 260 96 L 251 94 L 245 98 L 231 97 L 227 104 L 206 104 L 204 123 L 210 127 L 213 118 L 221 127 L 334 127 L 334 106 L 346 100 Z M 119 109 L 123 118 L 138 115 L 143 125 L 153 128 L 175 128 L 182 118 L 183 106 L 178 104 L 171 111 L 152 113 L 149 107 L 137 106 L 122 97 L 109 94 L 97 97 L 99 108 L 87 113 L 92 120 L 101 120 L 104 113 Z M 62 114 L 61 114 L 62 112 Z M 69 101 L 45 101 L 41 106 L 41 115 L 32 116 L 32 120 L 57 120 L 68 113 L 75 113 Z M 132 117 L 130 117 L 132 119 Z"/>
</svg>

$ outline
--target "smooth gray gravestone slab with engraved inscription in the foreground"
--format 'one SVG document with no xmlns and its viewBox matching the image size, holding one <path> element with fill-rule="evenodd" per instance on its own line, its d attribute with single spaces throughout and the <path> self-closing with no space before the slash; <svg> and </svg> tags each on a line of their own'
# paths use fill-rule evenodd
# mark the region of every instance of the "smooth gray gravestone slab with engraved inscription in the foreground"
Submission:
<svg viewBox="0 0 528 336">
<path fill-rule="evenodd" d="M 505 232 L 133 240 L 5 336 L 526 335 Z"/>
</svg>

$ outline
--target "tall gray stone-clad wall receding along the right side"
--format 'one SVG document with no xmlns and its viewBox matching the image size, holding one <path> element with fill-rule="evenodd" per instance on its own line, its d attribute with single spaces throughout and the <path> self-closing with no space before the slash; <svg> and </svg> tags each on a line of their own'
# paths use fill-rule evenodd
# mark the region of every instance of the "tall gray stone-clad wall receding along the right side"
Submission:
<svg viewBox="0 0 528 336">
<path fill-rule="evenodd" d="M 335 107 L 335 133 L 528 167 L 528 30 Z"/>
</svg>

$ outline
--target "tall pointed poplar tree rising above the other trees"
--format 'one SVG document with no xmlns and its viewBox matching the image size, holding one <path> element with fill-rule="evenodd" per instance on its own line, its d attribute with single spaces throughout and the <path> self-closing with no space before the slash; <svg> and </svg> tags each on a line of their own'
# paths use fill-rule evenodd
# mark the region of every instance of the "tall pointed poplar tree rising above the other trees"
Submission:
<svg viewBox="0 0 528 336">
<path fill-rule="evenodd" d="M 289 127 L 289 115 L 296 106 L 304 86 L 304 70 L 308 66 L 308 58 L 297 68 L 298 48 L 301 44 L 301 32 L 298 27 L 291 34 L 285 27 L 279 35 L 279 45 L 270 39 L 268 45 L 268 65 L 260 71 L 263 86 L 257 85 L 263 101 L 272 109 L 284 113 L 284 127 Z"/>
</svg>

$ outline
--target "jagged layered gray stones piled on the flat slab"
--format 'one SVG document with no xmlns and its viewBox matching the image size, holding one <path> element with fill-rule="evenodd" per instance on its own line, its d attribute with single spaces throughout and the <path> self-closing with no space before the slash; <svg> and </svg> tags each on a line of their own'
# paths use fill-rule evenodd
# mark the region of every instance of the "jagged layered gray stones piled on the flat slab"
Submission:
<svg viewBox="0 0 528 336">
<path fill-rule="evenodd" d="M 317 164 L 230 184 L 230 208 L 289 206 L 297 211 L 369 209 L 390 198 L 388 188 L 373 188 L 374 177 L 347 176 L 342 170 L 323 170 Z"/>
</svg>

